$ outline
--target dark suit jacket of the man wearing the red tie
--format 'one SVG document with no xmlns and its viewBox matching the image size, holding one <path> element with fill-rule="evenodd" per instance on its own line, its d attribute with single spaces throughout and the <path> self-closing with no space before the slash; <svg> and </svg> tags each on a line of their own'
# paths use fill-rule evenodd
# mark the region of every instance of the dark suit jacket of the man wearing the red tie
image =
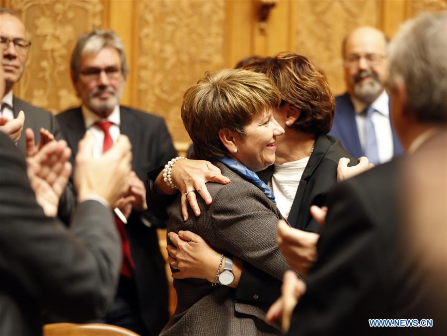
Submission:
<svg viewBox="0 0 447 336">
<path fill-rule="evenodd" d="M 120 106 L 120 111 L 120 132 L 127 135 L 132 144 L 132 169 L 145 181 L 148 171 L 164 165 L 177 152 L 162 118 L 124 106 Z M 57 119 L 64 138 L 73 150 L 73 162 L 77 143 L 85 134 L 81 108 L 65 111 Z M 141 216 L 141 213 L 133 211 L 125 227 L 135 263 L 142 319 L 149 331 L 157 334 L 168 320 L 165 263 L 160 254 L 155 227 L 160 222 L 150 217 L 152 227 L 148 227 Z"/>
</svg>

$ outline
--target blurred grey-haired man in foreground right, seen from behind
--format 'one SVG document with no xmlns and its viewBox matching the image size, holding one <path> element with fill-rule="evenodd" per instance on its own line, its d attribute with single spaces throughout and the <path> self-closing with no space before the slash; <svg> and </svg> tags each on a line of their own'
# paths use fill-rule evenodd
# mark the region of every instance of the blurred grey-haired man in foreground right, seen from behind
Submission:
<svg viewBox="0 0 447 336">
<path fill-rule="evenodd" d="M 430 197 L 446 200 L 446 25 L 446 12 L 425 14 L 405 23 L 391 42 L 392 119 L 410 155 L 348 179 L 329 195 L 318 259 L 305 279 L 289 335 L 446 335 L 445 201 L 442 211 L 433 211 L 437 215 L 414 223 L 420 211 L 409 205 L 430 202 L 423 188 L 406 188 L 409 182 L 434 182 Z M 424 174 L 408 174 L 414 164 Z M 415 237 L 415 227 L 443 238 Z M 427 251 L 440 241 L 442 252 L 433 262 Z M 299 298 L 301 281 L 285 278 L 270 321 L 287 313 L 291 298 Z M 386 322 L 391 326 L 373 327 L 378 321 L 372 319 L 391 319 Z M 408 324 L 413 328 L 402 328 Z"/>
</svg>

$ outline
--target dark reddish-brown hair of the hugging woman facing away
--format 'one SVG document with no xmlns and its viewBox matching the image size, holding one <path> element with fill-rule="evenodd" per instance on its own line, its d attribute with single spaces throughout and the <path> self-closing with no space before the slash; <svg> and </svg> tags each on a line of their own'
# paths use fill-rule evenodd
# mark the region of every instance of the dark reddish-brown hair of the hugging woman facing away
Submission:
<svg viewBox="0 0 447 336">
<path fill-rule="evenodd" d="M 334 96 L 325 73 L 306 57 L 282 53 L 255 61 L 244 69 L 265 73 L 278 88 L 281 103 L 301 109 L 294 123 L 297 130 L 316 136 L 331 130 L 335 113 Z"/>
</svg>

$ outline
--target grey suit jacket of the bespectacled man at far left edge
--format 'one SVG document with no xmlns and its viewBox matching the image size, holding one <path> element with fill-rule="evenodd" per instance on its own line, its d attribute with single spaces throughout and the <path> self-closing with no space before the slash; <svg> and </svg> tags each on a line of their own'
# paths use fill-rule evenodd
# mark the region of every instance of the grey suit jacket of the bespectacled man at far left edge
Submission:
<svg viewBox="0 0 447 336">
<path fill-rule="evenodd" d="M 17 118 L 17 114 L 23 110 L 25 113 L 25 123 L 23 125 L 23 133 L 22 136 L 20 136 L 20 139 L 17 142 L 17 146 L 25 152 L 26 150 L 26 139 L 25 139 L 25 130 L 27 128 L 30 128 L 33 130 L 35 135 L 35 142 L 36 144 L 39 143 L 40 139 L 40 129 L 43 127 L 44 129 L 47 129 L 50 131 L 56 140 L 59 140 L 62 138 L 61 131 L 59 128 L 59 124 L 56 121 L 55 116 L 46 110 L 43 110 L 39 107 L 36 107 L 34 105 L 28 104 L 27 102 L 16 98 L 15 96 L 12 97 L 12 112 L 14 114 L 14 118 Z"/>
</svg>

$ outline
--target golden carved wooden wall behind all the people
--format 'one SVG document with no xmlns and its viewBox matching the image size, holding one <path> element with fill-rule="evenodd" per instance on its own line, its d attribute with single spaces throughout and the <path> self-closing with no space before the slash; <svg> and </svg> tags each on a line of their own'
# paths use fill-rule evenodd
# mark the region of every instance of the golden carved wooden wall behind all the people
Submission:
<svg viewBox="0 0 447 336">
<path fill-rule="evenodd" d="M 275 4 L 266 22 L 258 8 Z M 345 90 L 340 45 L 372 25 L 392 37 L 398 25 L 447 0 L 0 0 L 18 12 L 32 46 L 15 94 L 58 113 L 79 103 L 69 61 L 79 34 L 111 28 L 131 69 L 122 103 L 163 116 L 175 145 L 189 144 L 179 111 L 183 92 L 206 70 L 249 55 L 305 55 L 326 71 L 334 94 Z"/>
</svg>

